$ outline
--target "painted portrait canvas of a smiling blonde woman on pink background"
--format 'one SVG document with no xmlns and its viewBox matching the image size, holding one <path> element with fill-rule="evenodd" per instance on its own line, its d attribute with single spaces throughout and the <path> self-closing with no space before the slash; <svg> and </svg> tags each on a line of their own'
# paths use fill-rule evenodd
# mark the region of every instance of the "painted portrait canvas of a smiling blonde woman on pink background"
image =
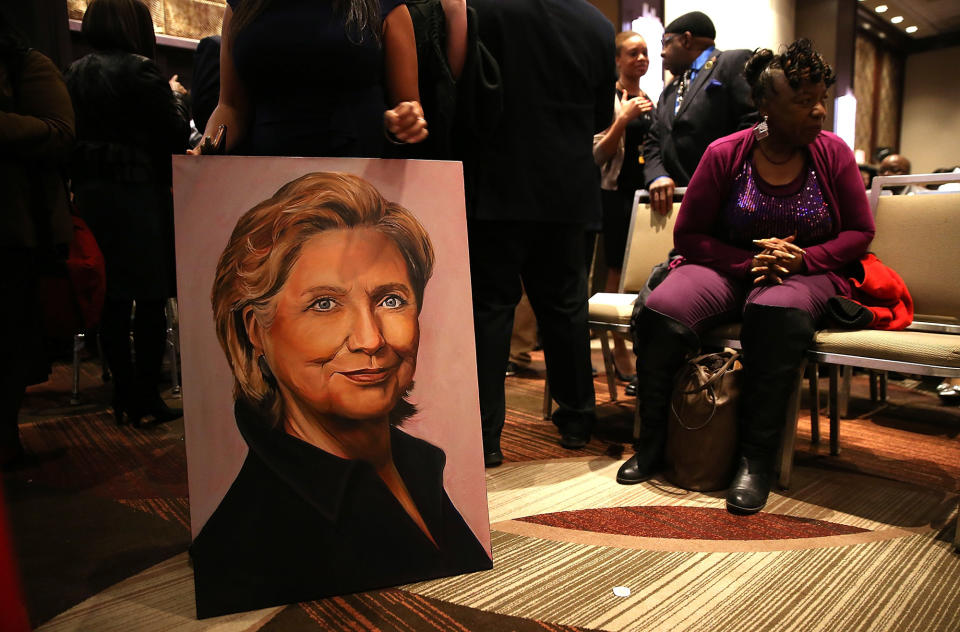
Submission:
<svg viewBox="0 0 960 632">
<path fill-rule="evenodd" d="M 200 618 L 492 567 L 459 163 L 175 157 Z"/>
</svg>

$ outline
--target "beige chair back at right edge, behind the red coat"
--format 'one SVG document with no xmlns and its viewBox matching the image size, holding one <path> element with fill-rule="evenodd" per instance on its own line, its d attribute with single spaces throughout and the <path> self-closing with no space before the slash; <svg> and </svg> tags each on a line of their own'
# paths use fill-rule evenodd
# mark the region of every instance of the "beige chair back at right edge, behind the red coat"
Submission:
<svg viewBox="0 0 960 632">
<path fill-rule="evenodd" d="M 919 314 L 960 317 L 960 193 L 877 200 L 870 250 L 899 274 Z"/>
</svg>

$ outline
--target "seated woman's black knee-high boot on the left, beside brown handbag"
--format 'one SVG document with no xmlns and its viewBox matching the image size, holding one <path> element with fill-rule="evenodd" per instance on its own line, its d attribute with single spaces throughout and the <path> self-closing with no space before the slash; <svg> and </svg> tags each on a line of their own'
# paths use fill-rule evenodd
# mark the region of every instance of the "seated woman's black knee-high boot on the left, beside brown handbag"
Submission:
<svg viewBox="0 0 960 632">
<path fill-rule="evenodd" d="M 640 437 L 634 455 L 617 472 L 617 482 L 624 485 L 643 482 L 662 466 L 673 378 L 700 347 L 689 327 L 649 309 L 641 312 L 634 329 Z"/>
</svg>

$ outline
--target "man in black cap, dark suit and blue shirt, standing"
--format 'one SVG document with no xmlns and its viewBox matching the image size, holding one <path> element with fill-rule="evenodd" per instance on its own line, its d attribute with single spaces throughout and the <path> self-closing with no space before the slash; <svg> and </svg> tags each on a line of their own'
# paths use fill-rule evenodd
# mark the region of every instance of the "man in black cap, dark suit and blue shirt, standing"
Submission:
<svg viewBox="0 0 960 632">
<path fill-rule="evenodd" d="M 664 29 L 663 67 L 673 80 L 660 94 L 657 118 L 644 148 L 651 204 L 670 211 L 675 187 L 687 186 L 707 145 L 757 121 L 743 77 L 748 50 L 720 51 L 713 21 L 699 11 Z"/>
</svg>

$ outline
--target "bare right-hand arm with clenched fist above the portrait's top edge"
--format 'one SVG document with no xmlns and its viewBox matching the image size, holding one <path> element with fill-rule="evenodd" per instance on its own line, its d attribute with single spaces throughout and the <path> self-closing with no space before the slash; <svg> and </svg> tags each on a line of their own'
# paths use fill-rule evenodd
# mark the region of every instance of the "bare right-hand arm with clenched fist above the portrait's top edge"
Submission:
<svg viewBox="0 0 960 632">
<path fill-rule="evenodd" d="M 413 21 L 405 5 L 387 14 L 383 24 L 383 47 L 387 101 L 393 106 L 384 112 L 384 123 L 398 140 L 419 143 L 427 137 L 427 122 L 423 118 L 417 87 L 417 42 L 413 35 Z"/>
</svg>

